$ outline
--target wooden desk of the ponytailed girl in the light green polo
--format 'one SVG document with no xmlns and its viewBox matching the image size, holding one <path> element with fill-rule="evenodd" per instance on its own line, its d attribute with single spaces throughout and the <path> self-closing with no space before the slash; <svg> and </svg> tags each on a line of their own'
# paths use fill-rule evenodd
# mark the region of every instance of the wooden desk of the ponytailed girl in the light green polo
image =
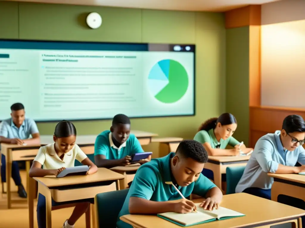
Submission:
<svg viewBox="0 0 305 228">
<path fill-rule="evenodd" d="M 209 156 L 209 161 L 204 168 L 212 170 L 214 174 L 214 184 L 221 188 L 221 174 L 226 173 L 227 167 L 245 166 L 249 160 L 249 156 Z M 223 191 L 223 190 L 222 190 Z"/>
</svg>

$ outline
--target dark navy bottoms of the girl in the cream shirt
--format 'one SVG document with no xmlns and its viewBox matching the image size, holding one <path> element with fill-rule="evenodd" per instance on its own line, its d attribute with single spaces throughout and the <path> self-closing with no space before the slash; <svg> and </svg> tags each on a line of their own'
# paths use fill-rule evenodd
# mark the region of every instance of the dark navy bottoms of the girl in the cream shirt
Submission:
<svg viewBox="0 0 305 228">
<path fill-rule="evenodd" d="M 55 202 L 52 199 L 52 207 L 59 206 L 59 205 L 64 205 L 64 204 L 70 204 L 70 203 L 80 203 L 80 202 L 90 202 L 90 203 L 94 204 L 94 199 L 81 199 L 81 200 L 72 200 L 72 201 L 66 201 L 66 202 Z M 37 202 L 38 228 L 45 228 L 47 226 L 47 218 L 46 218 L 46 214 L 45 214 L 46 213 L 45 205 L 46 205 L 45 196 L 39 193 L 38 202 Z"/>
</svg>

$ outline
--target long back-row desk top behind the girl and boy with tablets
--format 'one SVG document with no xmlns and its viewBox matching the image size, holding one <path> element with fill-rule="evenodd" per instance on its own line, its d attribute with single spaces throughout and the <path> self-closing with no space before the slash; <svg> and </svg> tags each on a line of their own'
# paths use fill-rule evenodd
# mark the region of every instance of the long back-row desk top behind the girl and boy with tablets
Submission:
<svg viewBox="0 0 305 228">
<path fill-rule="evenodd" d="M 145 131 L 138 131 L 138 130 L 132 130 L 132 134 L 134 134 L 137 138 L 145 138 L 145 137 L 154 137 L 158 136 L 158 134 L 151 133 L 151 132 L 145 132 Z M 77 135 L 76 137 L 76 144 L 78 145 L 85 145 L 85 144 L 94 144 L 95 139 L 97 135 Z M 6 144 L 1 143 L 1 147 L 3 148 L 23 148 L 23 147 L 40 147 L 40 145 L 47 145 L 54 143 L 53 141 L 53 135 L 41 135 L 40 136 L 40 144 L 38 145 L 16 145 L 16 144 Z"/>
</svg>

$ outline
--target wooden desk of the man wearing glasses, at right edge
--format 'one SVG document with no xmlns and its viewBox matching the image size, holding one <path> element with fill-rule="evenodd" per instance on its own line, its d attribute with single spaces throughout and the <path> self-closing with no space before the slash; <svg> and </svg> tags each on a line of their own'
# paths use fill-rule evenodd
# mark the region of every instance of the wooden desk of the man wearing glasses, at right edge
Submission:
<svg viewBox="0 0 305 228">
<path fill-rule="evenodd" d="M 274 179 L 271 200 L 278 201 L 278 195 L 288 195 L 305 201 L 305 175 L 268 173 L 268 176 Z"/>
</svg>

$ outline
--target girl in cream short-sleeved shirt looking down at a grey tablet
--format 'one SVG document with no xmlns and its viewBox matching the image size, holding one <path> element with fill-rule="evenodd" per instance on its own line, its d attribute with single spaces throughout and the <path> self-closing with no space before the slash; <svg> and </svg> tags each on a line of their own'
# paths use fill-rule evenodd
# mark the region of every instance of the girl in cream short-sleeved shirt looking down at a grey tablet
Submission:
<svg viewBox="0 0 305 228">
<path fill-rule="evenodd" d="M 30 168 L 30 177 L 44 177 L 48 175 L 57 176 L 65 168 L 74 167 L 75 159 L 83 165 L 90 166 L 87 174 L 97 172 L 96 165 L 93 164 L 81 148 L 75 144 L 76 129 L 73 123 L 66 120 L 59 122 L 55 127 L 53 140 L 54 143 L 40 147 Z M 43 169 L 41 169 L 41 166 L 43 166 Z M 77 203 L 77 205 L 75 206 L 70 218 L 64 222 L 63 228 L 74 227 L 74 223 L 77 219 L 79 219 L 90 206 L 90 202 L 87 200 L 75 202 L 69 201 L 69 203 Z M 52 206 L 63 204 L 66 204 L 66 202 L 55 202 L 52 199 Z M 39 194 L 37 202 L 38 228 L 46 227 L 45 210 L 45 197 Z"/>
</svg>

